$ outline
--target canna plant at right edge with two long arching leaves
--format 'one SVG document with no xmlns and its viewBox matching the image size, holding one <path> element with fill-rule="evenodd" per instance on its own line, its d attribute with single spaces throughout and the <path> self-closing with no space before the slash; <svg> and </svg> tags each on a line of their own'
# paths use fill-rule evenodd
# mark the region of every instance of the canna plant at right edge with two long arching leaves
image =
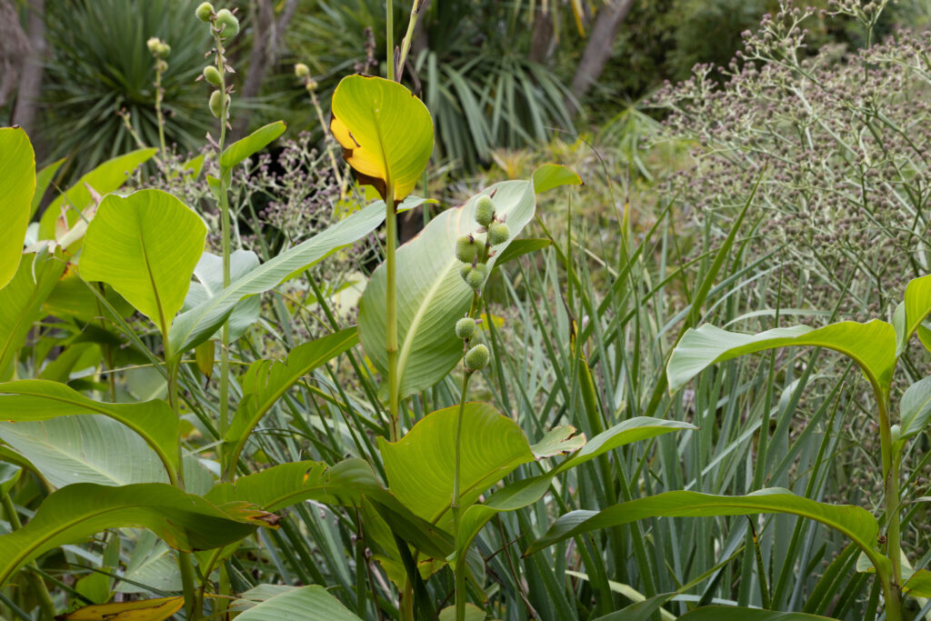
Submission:
<svg viewBox="0 0 931 621">
<path fill-rule="evenodd" d="M 830 505 L 790 493 L 780 488 L 762 488 L 743 496 L 674 491 L 660 493 L 609 506 L 600 511 L 573 511 L 556 520 L 549 530 L 529 547 L 527 553 L 551 546 L 567 537 L 588 533 L 635 520 L 656 517 L 743 516 L 785 513 L 816 520 L 842 533 L 859 548 L 857 571 L 875 574 L 885 601 L 885 618 L 903 618 L 903 597 L 931 596 L 931 573 L 913 570 L 903 554 L 900 518 L 908 502 L 903 497 L 900 471 L 910 442 L 919 437 L 931 421 L 931 378 L 911 384 L 899 399 L 898 416 L 891 410 L 891 387 L 898 359 L 917 333 L 931 350 L 924 319 L 931 313 L 931 277 L 911 280 L 904 301 L 897 306 L 892 323 L 873 319 L 867 323 L 842 321 L 819 329 L 809 326 L 776 328 L 758 334 L 724 331 L 711 325 L 685 331 L 668 361 L 670 390 L 678 390 L 712 365 L 752 353 L 780 347 L 813 346 L 840 352 L 851 358 L 870 385 L 880 433 L 880 464 L 884 481 L 882 512 L 874 516 L 860 506 Z M 768 425 L 763 425 L 765 430 Z M 765 452 L 767 434 L 761 434 L 760 452 Z M 793 538 L 792 547 L 798 545 Z M 758 557 L 763 608 L 767 608 L 765 569 Z M 672 594 L 657 596 L 655 610 Z M 699 608 L 681 618 L 718 619 L 813 619 L 810 614 L 769 613 L 759 609 L 720 606 Z"/>
</svg>

